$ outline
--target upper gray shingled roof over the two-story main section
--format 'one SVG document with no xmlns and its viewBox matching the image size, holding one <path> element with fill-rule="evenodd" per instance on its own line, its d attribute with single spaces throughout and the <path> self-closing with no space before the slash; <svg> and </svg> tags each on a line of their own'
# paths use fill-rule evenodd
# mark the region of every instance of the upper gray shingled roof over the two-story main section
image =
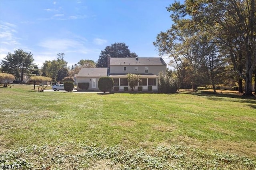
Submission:
<svg viewBox="0 0 256 170">
<path fill-rule="evenodd" d="M 162 57 L 110 58 L 110 65 L 166 65 Z"/>
</svg>

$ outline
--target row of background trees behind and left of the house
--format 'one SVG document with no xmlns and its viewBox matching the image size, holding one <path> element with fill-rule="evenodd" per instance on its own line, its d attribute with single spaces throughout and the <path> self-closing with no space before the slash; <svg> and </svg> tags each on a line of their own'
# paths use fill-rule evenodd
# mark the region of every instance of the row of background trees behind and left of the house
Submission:
<svg viewBox="0 0 256 170">
<path fill-rule="evenodd" d="M 8 53 L 1 60 L 1 71 L 14 75 L 16 81 L 23 83 L 24 75 L 42 75 L 50 77 L 52 81 L 62 81 L 64 77 L 74 76 L 82 67 L 107 67 L 108 57 L 138 57 L 136 53 L 131 53 L 125 43 L 113 43 L 101 51 L 97 62 L 90 59 L 81 59 L 77 64 L 68 67 L 65 61 L 65 53 L 58 53 L 56 59 L 46 60 L 42 68 L 33 63 L 34 58 L 31 52 L 17 49 L 14 53 Z"/>
</svg>

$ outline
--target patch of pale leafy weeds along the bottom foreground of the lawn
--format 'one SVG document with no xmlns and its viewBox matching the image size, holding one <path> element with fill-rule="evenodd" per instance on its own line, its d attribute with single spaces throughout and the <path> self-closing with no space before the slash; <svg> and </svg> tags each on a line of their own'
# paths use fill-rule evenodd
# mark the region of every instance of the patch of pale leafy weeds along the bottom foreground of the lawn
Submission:
<svg viewBox="0 0 256 170">
<path fill-rule="evenodd" d="M 256 168 L 256 162 L 235 154 L 194 149 L 187 146 L 157 146 L 151 151 L 123 146 L 99 148 L 76 143 L 21 147 L 0 155 L 0 164 L 21 165 L 23 169 L 122 170 L 164 169 L 243 169 Z"/>
</svg>

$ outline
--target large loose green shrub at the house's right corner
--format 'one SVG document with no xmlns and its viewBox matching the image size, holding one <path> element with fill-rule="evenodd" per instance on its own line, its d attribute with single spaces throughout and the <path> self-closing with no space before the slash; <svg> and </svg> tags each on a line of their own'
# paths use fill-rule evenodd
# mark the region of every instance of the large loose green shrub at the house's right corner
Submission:
<svg viewBox="0 0 256 170">
<path fill-rule="evenodd" d="M 178 85 L 176 79 L 172 77 L 167 77 L 163 75 L 162 72 L 159 73 L 158 81 L 158 92 L 160 93 L 175 93 L 178 90 Z"/>
</svg>

